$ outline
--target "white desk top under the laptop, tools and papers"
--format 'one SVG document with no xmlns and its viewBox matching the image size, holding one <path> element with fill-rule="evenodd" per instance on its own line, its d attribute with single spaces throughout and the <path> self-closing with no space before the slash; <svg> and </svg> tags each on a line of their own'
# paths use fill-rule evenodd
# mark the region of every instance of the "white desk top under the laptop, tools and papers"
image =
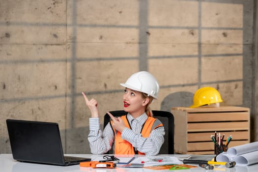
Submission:
<svg viewBox="0 0 258 172">
<path fill-rule="evenodd" d="M 92 154 L 68 154 L 68 156 L 79 156 L 86 158 L 95 158 Z M 188 155 L 160 155 L 160 156 L 176 156 L 176 157 L 188 157 Z M 258 164 L 249 167 L 234 168 L 220 168 L 217 170 L 205 170 L 198 167 L 189 170 L 159 170 L 157 172 L 257 172 Z M 92 168 L 80 168 L 80 165 L 72 165 L 67 167 L 22 163 L 14 160 L 12 154 L 0 154 L 0 172 L 153 172 L 153 170 L 145 168 L 116 168 L 116 169 L 92 169 Z"/>
</svg>

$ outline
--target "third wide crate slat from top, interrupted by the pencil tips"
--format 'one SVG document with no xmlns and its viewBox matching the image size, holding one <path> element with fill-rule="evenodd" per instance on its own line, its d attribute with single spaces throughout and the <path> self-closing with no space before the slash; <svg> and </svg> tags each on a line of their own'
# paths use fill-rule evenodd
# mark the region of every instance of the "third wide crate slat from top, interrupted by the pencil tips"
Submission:
<svg viewBox="0 0 258 172">
<path fill-rule="evenodd" d="M 227 137 L 232 135 L 234 140 L 249 140 L 249 131 L 234 131 L 234 132 L 223 132 L 221 135 L 224 137 L 224 141 L 226 141 Z M 210 135 L 214 135 L 214 132 L 209 133 L 188 133 L 187 134 L 187 142 L 200 142 L 200 141 L 211 141 Z"/>
</svg>

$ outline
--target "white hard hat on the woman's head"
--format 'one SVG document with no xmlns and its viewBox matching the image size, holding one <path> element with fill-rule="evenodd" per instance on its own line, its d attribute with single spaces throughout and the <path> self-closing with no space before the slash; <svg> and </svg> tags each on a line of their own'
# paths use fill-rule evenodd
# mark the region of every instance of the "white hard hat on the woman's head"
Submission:
<svg viewBox="0 0 258 172">
<path fill-rule="evenodd" d="M 141 71 L 134 73 L 124 84 L 121 83 L 120 85 L 136 91 L 144 92 L 155 99 L 158 98 L 159 84 L 156 78 L 149 72 Z"/>
</svg>

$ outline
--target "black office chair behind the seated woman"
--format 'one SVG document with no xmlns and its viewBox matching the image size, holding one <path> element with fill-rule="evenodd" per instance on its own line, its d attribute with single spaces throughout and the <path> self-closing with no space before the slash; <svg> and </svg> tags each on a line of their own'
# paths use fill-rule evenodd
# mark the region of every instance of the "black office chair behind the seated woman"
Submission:
<svg viewBox="0 0 258 172">
<path fill-rule="evenodd" d="M 111 111 L 115 117 L 126 115 L 125 111 Z M 158 118 L 165 128 L 164 143 L 160 148 L 159 154 L 174 154 L 174 116 L 167 111 L 152 111 L 153 117 Z M 104 116 L 104 128 L 110 122 L 110 116 L 106 114 Z M 114 154 L 113 148 L 111 148 L 107 154 Z"/>
</svg>

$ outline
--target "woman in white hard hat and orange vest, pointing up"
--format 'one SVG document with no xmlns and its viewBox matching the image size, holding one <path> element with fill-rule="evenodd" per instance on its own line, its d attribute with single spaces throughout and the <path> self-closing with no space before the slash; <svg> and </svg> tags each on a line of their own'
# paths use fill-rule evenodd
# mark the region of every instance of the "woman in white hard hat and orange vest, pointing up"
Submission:
<svg viewBox="0 0 258 172">
<path fill-rule="evenodd" d="M 158 96 L 157 80 L 150 73 L 141 71 L 120 85 L 125 87 L 123 105 L 128 114 L 115 118 L 108 112 L 112 121 L 103 133 L 99 126 L 98 103 L 93 98 L 88 100 L 83 93 L 91 113 L 88 135 L 91 153 L 105 154 L 114 146 L 115 154 L 158 154 L 164 143 L 165 130 L 163 124 L 152 117 L 149 108 Z"/>
</svg>

